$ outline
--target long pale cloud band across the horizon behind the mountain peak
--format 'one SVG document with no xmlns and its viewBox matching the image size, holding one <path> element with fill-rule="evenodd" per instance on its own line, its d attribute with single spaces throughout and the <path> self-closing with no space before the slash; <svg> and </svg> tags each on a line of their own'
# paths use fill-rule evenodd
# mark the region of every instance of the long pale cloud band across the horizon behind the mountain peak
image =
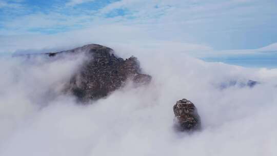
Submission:
<svg viewBox="0 0 277 156">
<path fill-rule="evenodd" d="M 51 24 L 51 23 L 48 23 Z M 152 31 L 152 30 L 151 30 Z M 148 25 L 116 25 L 102 24 L 91 26 L 83 30 L 75 30 L 57 34 L 29 34 L 11 35 L 9 37 L 0 36 L 0 52 L 13 53 L 18 51 L 47 52 L 49 50 L 61 50 L 63 48 L 73 48 L 84 44 L 97 43 L 108 46 L 124 46 L 130 49 L 136 47 L 147 47 L 148 49 L 160 49 L 184 52 L 194 57 L 220 57 L 240 54 L 257 54 L 261 52 L 274 51 L 274 45 L 258 49 L 234 49 L 215 50 L 206 44 L 193 44 L 179 40 L 161 40 L 159 32 L 149 31 Z M 164 33 L 165 34 L 165 33 Z M 173 34 L 174 35 L 174 34 Z M 165 34 L 170 38 L 170 34 Z M 184 36 L 185 37 L 185 36 Z M 14 42 L 16 41 L 16 42 Z"/>
</svg>

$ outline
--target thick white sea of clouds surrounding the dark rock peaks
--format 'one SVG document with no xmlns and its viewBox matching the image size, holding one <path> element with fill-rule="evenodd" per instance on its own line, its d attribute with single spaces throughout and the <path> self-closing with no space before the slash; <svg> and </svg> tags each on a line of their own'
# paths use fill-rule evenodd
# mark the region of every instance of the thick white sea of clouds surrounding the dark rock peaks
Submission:
<svg viewBox="0 0 277 156">
<path fill-rule="evenodd" d="M 153 79 L 91 105 L 64 93 L 83 55 L 0 57 L 0 155 L 277 155 L 277 69 L 206 63 L 171 49 L 113 46 Z M 254 87 L 221 84 L 254 80 Z M 186 98 L 202 130 L 173 129 Z"/>
</svg>

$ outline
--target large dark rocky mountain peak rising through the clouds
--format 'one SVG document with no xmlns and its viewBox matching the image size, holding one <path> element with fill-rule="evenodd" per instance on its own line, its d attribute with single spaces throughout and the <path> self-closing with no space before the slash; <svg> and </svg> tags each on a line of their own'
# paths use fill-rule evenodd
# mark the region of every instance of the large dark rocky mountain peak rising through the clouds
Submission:
<svg viewBox="0 0 277 156">
<path fill-rule="evenodd" d="M 141 85 L 151 81 L 151 76 L 142 74 L 136 57 L 116 57 L 111 48 L 90 44 L 72 50 L 47 53 L 56 56 L 62 53 L 86 53 L 88 61 L 71 78 L 67 91 L 81 101 L 97 100 L 122 87 L 127 80 Z"/>
</svg>

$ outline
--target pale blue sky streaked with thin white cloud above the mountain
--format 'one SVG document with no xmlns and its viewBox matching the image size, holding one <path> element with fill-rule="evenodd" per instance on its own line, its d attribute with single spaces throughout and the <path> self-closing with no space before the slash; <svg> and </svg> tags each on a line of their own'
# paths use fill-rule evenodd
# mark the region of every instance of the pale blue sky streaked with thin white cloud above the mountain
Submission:
<svg viewBox="0 0 277 156">
<path fill-rule="evenodd" d="M 275 0 L 0 0 L 0 46 L 14 52 L 39 40 L 32 45 L 38 49 L 46 38 L 79 36 L 77 42 L 168 41 L 222 53 L 271 45 L 275 51 L 276 10 Z"/>
</svg>

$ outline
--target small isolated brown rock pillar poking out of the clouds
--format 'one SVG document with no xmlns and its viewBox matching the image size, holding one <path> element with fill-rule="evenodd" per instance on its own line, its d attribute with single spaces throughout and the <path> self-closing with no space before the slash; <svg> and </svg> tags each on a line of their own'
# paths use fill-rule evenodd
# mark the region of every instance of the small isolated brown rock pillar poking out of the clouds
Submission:
<svg viewBox="0 0 277 156">
<path fill-rule="evenodd" d="M 201 119 L 194 104 L 187 99 L 176 102 L 173 106 L 176 125 L 181 131 L 190 131 L 201 128 Z"/>
</svg>

